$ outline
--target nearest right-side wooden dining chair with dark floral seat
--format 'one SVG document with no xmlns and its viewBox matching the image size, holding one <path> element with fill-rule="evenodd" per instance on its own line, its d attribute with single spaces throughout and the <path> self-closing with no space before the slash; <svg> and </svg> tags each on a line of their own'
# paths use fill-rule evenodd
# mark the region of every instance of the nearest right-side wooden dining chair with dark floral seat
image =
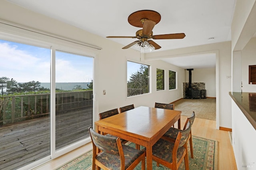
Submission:
<svg viewBox="0 0 256 170">
<path fill-rule="evenodd" d="M 186 125 L 186 129 L 178 132 L 174 143 L 160 138 L 152 146 L 152 160 L 157 162 L 157 166 L 162 164 L 172 170 L 178 170 L 184 159 L 185 169 L 189 170 L 187 140 L 190 130 L 191 123 L 189 121 Z M 143 150 L 146 150 L 146 148 Z"/>
</svg>

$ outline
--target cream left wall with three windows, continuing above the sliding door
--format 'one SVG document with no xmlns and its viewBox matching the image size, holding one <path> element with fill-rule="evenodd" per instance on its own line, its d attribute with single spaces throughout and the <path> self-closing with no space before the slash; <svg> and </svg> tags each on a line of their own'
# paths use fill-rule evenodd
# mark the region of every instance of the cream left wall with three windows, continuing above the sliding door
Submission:
<svg viewBox="0 0 256 170">
<path fill-rule="evenodd" d="M 107 38 L 91 34 L 82 29 L 34 13 L 6 1 L 0 1 L 0 19 L 35 30 L 42 30 L 43 32 L 64 38 L 70 38 L 79 42 L 102 47 L 102 50 L 97 51 L 96 77 L 94 79 L 94 82 L 97 82 L 94 89 L 98 92 L 96 94 L 98 101 L 96 114 L 132 103 L 134 103 L 135 107 L 140 105 L 154 107 L 155 101 L 170 103 L 182 98 L 182 82 L 185 80 L 184 69 L 161 60 L 154 62 L 144 61 L 143 56 L 142 61 L 140 61 L 140 53 L 138 51 L 122 49 L 123 45 Z M 151 93 L 126 98 L 127 59 L 151 66 Z M 178 89 L 168 90 L 168 81 L 165 81 L 167 90 L 156 91 L 156 68 L 165 69 L 166 71 L 169 69 L 176 71 L 178 74 Z M 168 76 L 168 74 L 166 74 L 166 76 Z M 103 90 L 106 90 L 106 95 L 103 95 Z"/>
</svg>

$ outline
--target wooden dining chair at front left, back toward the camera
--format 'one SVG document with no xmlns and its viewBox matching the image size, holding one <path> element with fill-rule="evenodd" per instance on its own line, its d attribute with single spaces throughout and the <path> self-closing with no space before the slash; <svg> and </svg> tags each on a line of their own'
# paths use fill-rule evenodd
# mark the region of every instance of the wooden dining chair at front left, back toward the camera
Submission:
<svg viewBox="0 0 256 170">
<path fill-rule="evenodd" d="M 95 132 L 89 128 L 92 139 L 92 170 L 133 170 L 140 162 L 141 169 L 145 170 L 145 152 L 121 144 L 120 138 L 110 137 Z M 101 150 L 96 153 L 97 148 Z"/>
</svg>

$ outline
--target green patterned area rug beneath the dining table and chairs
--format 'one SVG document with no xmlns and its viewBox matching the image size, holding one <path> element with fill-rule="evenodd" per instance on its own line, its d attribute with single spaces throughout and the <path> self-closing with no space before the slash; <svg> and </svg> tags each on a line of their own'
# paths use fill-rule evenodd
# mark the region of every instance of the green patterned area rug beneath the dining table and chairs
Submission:
<svg viewBox="0 0 256 170">
<path fill-rule="evenodd" d="M 190 157 L 189 150 L 189 169 L 190 170 L 217 170 L 218 169 L 218 142 L 206 138 L 192 136 L 194 158 Z M 128 144 L 135 147 L 134 143 Z M 188 145 L 189 146 L 189 145 Z M 140 163 L 141 164 L 141 163 Z M 141 165 L 136 166 L 135 170 L 141 170 Z M 92 151 L 83 154 L 82 156 L 72 160 L 68 164 L 58 168 L 58 170 L 91 170 L 92 169 Z M 165 166 L 156 166 L 153 161 L 154 170 L 168 170 Z M 184 160 L 182 161 L 179 170 L 185 170 Z"/>
</svg>

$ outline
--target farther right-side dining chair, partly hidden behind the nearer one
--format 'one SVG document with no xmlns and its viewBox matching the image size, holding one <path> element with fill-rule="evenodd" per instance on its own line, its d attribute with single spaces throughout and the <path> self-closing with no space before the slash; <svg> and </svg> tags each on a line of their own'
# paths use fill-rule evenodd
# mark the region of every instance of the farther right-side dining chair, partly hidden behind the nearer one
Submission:
<svg viewBox="0 0 256 170">
<path fill-rule="evenodd" d="M 186 120 L 186 123 L 184 125 L 183 130 L 186 128 L 186 125 L 188 124 L 188 122 L 191 122 L 191 127 L 194 123 L 195 120 L 195 112 L 192 112 L 191 117 L 188 117 Z M 161 138 L 165 139 L 165 140 L 169 140 L 170 142 L 175 142 L 178 132 L 180 132 L 182 130 L 178 129 L 178 128 L 170 128 Z M 188 136 L 188 140 L 189 140 L 189 144 L 190 144 L 190 155 L 191 158 L 194 158 L 194 154 L 193 154 L 193 143 L 192 143 L 192 132 L 190 130 L 189 136 Z"/>
</svg>

